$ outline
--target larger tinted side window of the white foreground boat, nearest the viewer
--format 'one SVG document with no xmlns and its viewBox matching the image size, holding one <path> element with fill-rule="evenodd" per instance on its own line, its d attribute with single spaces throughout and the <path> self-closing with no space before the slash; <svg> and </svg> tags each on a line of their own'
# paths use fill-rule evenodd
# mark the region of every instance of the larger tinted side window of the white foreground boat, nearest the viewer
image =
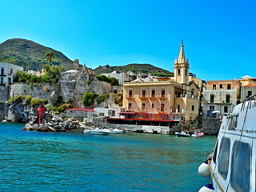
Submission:
<svg viewBox="0 0 256 192">
<path fill-rule="evenodd" d="M 250 144 L 234 142 L 232 150 L 230 185 L 234 191 L 250 191 Z"/>
</svg>

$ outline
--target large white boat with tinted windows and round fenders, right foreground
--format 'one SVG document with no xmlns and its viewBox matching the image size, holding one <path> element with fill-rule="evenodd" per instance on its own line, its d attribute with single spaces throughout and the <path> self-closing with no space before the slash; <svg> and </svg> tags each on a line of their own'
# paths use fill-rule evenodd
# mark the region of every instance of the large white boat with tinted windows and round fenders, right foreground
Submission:
<svg viewBox="0 0 256 192">
<path fill-rule="evenodd" d="M 211 175 L 213 188 L 203 186 L 200 192 L 256 191 L 255 96 L 238 104 L 229 116 L 222 118 L 214 153 L 198 168 L 202 176 Z"/>
</svg>

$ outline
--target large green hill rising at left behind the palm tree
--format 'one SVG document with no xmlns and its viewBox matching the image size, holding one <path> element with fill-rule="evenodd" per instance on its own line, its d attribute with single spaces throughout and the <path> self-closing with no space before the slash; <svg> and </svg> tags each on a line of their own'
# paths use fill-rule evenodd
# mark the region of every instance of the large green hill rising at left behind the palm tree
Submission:
<svg viewBox="0 0 256 192">
<path fill-rule="evenodd" d="M 14 63 L 24 67 L 24 70 L 41 70 L 43 65 L 49 63 L 46 60 L 47 50 L 54 52 L 55 58 L 52 64 L 60 65 L 62 62 L 71 62 L 58 50 L 22 38 L 9 39 L 0 44 L 0 62 Z"/>
</svg>

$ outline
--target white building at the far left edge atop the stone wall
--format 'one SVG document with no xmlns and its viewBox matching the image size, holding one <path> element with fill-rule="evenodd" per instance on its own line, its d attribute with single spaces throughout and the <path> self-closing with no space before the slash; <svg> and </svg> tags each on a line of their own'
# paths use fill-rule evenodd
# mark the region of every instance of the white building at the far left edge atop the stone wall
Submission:
<svg viewBox="0 0 256 192">
<path fill-rule="evenodd" d="M 10 86 L 14 82 L 15 74 L 19 70 L 23 70 L 23 67 L 9 62 L 0 62 L 0 85 Z"/>
</svg>

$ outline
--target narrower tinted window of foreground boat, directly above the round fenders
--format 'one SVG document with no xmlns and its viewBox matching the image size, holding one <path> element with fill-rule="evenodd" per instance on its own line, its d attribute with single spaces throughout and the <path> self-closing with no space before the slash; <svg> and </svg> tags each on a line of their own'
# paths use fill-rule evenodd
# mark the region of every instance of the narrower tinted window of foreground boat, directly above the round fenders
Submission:
<svg viewBox="0 0 256 192">
<path fill-rule="evenodd" d="M 224 179 L 228 174 L 230 163 L 230 138 L 222 138 L 221 148 L 218 155 L 218 172 Z"/>
</svg>

